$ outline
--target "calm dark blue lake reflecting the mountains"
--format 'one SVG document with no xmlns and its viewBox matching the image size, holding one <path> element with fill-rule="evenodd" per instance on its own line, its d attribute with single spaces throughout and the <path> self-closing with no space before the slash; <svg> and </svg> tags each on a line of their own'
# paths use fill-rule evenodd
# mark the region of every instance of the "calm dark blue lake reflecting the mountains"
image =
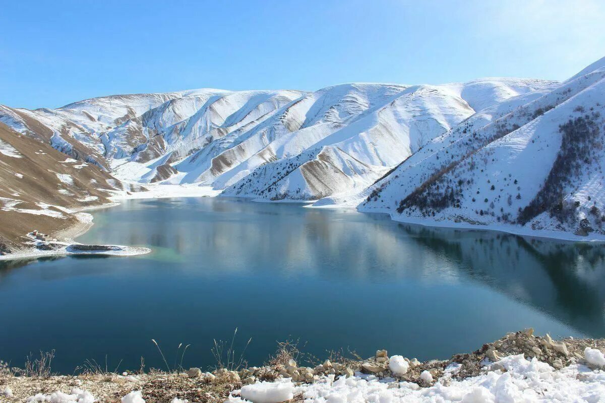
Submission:
<svg viewBox="0 0 605 403">
<path fill-rule="evenodd" d="M 605 248 L 424 228 L 382 214 L 230 198 L 127 201 L 94 214 L 80 242 L 151 247 L 140 257 L 0 263 L 0 359 L 56 350 L 160 367 L 214 363 L 213 338 L 249 337 L 250 364 L 288 338 L 316 356 L 385 348 L 419 359 L 508 331 L 605 337 Z"/>
</svg>

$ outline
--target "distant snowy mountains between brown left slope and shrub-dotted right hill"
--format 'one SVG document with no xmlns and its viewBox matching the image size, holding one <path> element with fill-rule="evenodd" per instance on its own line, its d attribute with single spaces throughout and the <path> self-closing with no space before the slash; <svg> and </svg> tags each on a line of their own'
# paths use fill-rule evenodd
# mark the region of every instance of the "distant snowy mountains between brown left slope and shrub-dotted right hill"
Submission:
<svg viewBox="0 0 605 403">
<path fill-rule="evenodd" d="M 114 95 L 0 121 L 119 179 L 198 183 L 226 195 L 357 193 L 477 110 L 551 82 L 354 83 L 315 92 L 199 89 Z"/>
</svg>

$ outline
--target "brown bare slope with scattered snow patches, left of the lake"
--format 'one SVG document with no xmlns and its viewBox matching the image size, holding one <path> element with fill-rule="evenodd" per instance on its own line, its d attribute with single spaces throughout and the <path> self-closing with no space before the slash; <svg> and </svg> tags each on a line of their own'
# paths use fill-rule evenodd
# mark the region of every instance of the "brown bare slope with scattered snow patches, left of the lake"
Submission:
<svg viewBox="0 0 605 403">
<path fill-rule="evenodd" d="M 0 123 L 0 254 L 26 247 L 32 230 L 60 237 L 82 225 L 71 210 L 110 202 L 106 189 L 118 183 L 94 164 Z"/>
</svg>

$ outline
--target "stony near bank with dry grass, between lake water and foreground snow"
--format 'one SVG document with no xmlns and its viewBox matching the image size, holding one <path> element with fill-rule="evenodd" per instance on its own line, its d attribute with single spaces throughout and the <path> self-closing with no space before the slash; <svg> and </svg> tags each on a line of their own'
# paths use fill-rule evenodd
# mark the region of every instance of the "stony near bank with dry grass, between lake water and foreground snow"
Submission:
<svg viewBox="0 0 605 403">
<path fill-rule="evenodd" d="M 367 359 L 335 356 L 331 360 L 308 365 L 297 363 L 288 350 L 281 349 L 264 366 L 237 370 L 191 368 L 175 372 L 150 370 L 120 374 L 88 370 L 74 376 L 32 377 L 19 376 L 18 370 L 4 366 L 0 367 L 0 401 L 222 403 L 246 399 L 253 403 L 278 403 L 290 399 L 309 400 L 309 388 L 315 387 L 313 385 L 325 387 L 326 382 L 336 385 L 338 382 L 335 380 L 341 378 L 350 378 L 353 383 L 378 382 L 376 384 L 387 385 L 386 388 L 405 387 L 422 392 L 479 379 L 490 373 L 497 376 L 509 370 L 512 373 L 509 362 L 514 359 L 528 360 L 527 363 L 541 366 L 543 372 L 549 373 L 563 373 L 576 366 L 576 372 L 596 374 L 598 383 L 594 386 L 605 391 L 604 353 L 605 339 L 565 338 L 555 341 L 548 334 L 535 336 L 532 329 L 525 329 L 483 344 L 474 352 L 423 363 L 416 358 L 389 356 L 386 350 L 378 350 Z M 584 379 L 578 373 L 575 378 L 586 381 L 592 379 L 589 375 Z M 291 397 L 286 394 L 288 399 L 279 398 L 280 393 L 276 391 L 282 390 L 284 385 L 288 390 L 298 391 L 298 394 L 293 393 Z M 305 390 L 309 393 L 302 393 Z M 61 393 L 57 395 L 57 391 Z"/>
</svg>

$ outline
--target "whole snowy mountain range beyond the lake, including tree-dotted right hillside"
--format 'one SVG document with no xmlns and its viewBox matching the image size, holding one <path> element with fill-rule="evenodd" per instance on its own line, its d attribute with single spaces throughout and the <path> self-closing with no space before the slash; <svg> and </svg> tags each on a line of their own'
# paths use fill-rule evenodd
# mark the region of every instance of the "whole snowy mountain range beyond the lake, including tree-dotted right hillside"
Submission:
<svg viewBox="0 0 605 403">
<path fill-rule="evenodd" d="M 605 239 L 603 108 L 605 58 L 564 82 L 113 95 L 0 106 L 0 122 L 116 188 L 209 185 L 428 225 Z M 0 145 L 10 165 L 7 154 Z"/>
</svg>

